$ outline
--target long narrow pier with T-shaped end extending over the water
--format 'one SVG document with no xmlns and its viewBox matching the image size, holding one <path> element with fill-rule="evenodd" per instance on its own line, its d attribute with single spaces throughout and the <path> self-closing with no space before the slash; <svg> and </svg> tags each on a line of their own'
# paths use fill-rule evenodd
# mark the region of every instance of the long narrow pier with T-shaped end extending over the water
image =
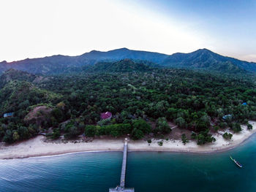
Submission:
<svg viewBox="0 0 256 192">
<path fill-rule="evenodd" d="M 123 164 L 121 166 L 121 178 L 120 178 L 120 185 L 118 185 L 116 188 L 110 188 L 109 192 L 115 192 L 115 191 L 124 191 L 124 192 L 134 192 L 134 188 L 125 188 L 125 174 L 127 171 L 127 146 L 128 140 L 127 138 L 124 140 L 124 151 L 123 151 Z"/>
</svg>

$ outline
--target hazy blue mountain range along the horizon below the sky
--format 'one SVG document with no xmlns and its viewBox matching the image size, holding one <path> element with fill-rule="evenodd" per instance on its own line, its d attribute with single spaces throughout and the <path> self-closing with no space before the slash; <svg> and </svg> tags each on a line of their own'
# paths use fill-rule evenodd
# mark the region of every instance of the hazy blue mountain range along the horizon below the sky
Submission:
<svg viewBox="0 0 256 192">
<path fill-rule="evenodd" d="M 88 66 L 94 66 L 98 63 L 114 63 L 124 59 L 130 59 L 135 61 L 135 63 L 146 61 L 147 63 L 157 64 L 157 66 L 162 67 L 206 69 L 219 72 L 256 72 L 256 63 L 226 57 L 207 49 L 196 50 L 192 53 L 166 55 L 121 48 L 107 52 L 92 50 L 89 53 L 78 56 L 53 55 L 44 58 L 27 58 L 9 63 L 2 61 L 0 62 L 0 73 L 11 68 L 33 74 L 80 72 L 82 69 L 86 70 Z M 131 63 L 129 62 L 129 64 Z M 94 66 L 94 69 L 96 66 Z"/>
</svg>

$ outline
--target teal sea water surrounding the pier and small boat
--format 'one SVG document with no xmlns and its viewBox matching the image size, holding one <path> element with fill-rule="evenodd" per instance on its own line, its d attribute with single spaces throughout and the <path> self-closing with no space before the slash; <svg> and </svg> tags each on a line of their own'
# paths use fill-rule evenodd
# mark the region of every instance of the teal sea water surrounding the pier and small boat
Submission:
<svg viewBox="0 0 256 192">
<path fill-rule="evenodd" d="M 111 152 L 3 160 L 0 191 L 108 191 L 119 183 L 121 159 Z M 126 185 L 137 192 L 256 191 L 256 135 L 223 153 L 129 153 Z"/>
</svg>

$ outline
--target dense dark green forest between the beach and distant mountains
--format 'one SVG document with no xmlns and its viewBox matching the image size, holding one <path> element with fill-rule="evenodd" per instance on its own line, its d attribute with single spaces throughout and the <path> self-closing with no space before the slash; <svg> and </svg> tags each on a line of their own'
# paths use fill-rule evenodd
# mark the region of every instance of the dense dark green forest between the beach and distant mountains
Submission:
<svg viewBox="0 0 256 192">
<path fill-rule="evenodd" d="M 15 142 L 51 127 L 53 139 L 83 133 L 86 137 L 130 134 L 141 139 L 150 133 L 154 137 L 169 134 L 167 122 L 172 122 L 195 131 L 192 138 L 203 144 L 214 141 L 209 128 L 240 131 L 241 123 L 256 120 L 252 74 L 155 69 L 130 60 L 92 69 L 41 81 L 19 71 L 3 74 L 0 114 L 14 112 L 14 117 L 0 119 L 0 138 Z M 111 112 L 113 118 L 101 120 L 102 112 Z M 230 118 L 224 120 L 225 115 Z"/>
</svg>

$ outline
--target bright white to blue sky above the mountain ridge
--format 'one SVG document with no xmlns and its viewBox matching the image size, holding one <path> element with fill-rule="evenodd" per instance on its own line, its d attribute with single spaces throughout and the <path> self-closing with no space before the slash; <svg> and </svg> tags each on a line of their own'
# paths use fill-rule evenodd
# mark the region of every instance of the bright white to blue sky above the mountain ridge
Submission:
<svg viewBox="0 0 256 192">
<path fill-rule="evenodd" d="M 255 0 L 0 0 L 0 61 L 127 47 L 256 62 Z"/>
</svg>

